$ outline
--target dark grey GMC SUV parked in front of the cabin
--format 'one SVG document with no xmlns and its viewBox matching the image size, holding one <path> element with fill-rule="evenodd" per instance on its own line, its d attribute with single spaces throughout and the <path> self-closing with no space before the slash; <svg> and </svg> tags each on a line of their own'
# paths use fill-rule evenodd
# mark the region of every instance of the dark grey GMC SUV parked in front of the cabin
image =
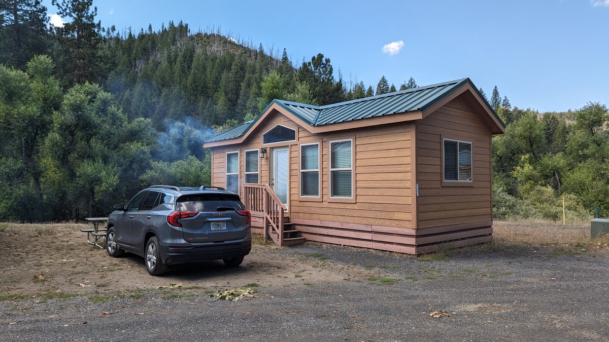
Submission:
<svg viewBox="0 0 609 342">
<path fill-rule="evenodd" d="M 114 206 L 106 251 L 143 256 L 153 276 L 175 263 L 222 259 L 238 266 L 252 249 L 251 222 L 239 195 L 221 187 L 150 186 Z"/>
</svg>

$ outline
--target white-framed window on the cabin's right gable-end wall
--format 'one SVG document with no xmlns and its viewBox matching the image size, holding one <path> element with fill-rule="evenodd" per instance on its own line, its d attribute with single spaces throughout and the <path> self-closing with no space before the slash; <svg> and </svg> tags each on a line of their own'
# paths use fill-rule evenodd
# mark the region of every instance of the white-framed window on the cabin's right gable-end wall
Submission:
<svg viewBox="0 0 609 342">
<path fill-rule="evenodd" d="M 444 180 L 471 182 L 471 142 L 444 139 Z"/>
</svg>

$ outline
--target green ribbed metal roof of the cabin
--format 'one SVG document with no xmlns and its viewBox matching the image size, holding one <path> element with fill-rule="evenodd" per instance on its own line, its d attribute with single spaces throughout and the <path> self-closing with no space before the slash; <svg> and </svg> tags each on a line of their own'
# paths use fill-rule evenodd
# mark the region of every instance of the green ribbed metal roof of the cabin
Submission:
<svg viewBox="0 0 609 342">
<path fill-rule="evenodd" d="M 313 106 L 306 105 L 305 103 L 273 100 L 262 113 L 266 112 L 273 103 L 276 103 L 281 106 L 281 108 L 284 108 L 310 126 L 336 124 L 338 122 L 361 120 L 370 117 L 405 113 L 408 111 L 424 111 L 466 83 L 471 83 L 471 80 L 460 79 L 437 83 L 435 85 L 420 86 L 418 88 L 390 92 L 388 94 L 365 97 L 364 99 L 334 103 L 325 106 Z M 473 83 L 471 83 L 471 85 L 476 89 L 476 92 L 478 92 L 476 86 L 474 86 Z M 480 95 L 479 92 L 478 94 Z M 484 99 L 484 97 L 480 97 Z M 488 106 L 488 108 L 490 108 L 490 106 Z M 499 119 L 497 114 L 492 109 L 490 110 L 495 114 L 495 117 Z M 220 133 L 206 142 L 238 138 L 242 134 L 245 134 L 261 116 L 258 116 L 256 120 L 245 122 L 245 124 L 239 125 L 224 133 Z M 501 122 L 501 119 L 499 119 L 499 122 Z M 501 122 L 501 124 L 503 124 L 503 122 Z"/>
</svg>

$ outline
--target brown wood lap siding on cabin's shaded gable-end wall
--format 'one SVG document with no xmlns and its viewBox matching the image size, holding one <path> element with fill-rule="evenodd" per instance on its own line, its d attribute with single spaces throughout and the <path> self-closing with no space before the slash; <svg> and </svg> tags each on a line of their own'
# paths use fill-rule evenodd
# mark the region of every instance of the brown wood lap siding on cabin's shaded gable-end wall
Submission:
<svg viewBox="0 0 609 342">
<path fill-rule="evenodd" d="M 417 124 L 417 228 L 492 220 L 491 138 L 464 100 L 452 100 Z M 473 144 L 473 183 L 442 186 L 442 139 Z"/>
</svg>

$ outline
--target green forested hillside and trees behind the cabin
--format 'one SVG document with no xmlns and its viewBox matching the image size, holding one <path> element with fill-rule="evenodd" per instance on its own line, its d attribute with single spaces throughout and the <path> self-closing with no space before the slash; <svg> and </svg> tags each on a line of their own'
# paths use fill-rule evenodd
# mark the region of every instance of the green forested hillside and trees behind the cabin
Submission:
<svg viewBox="0 0 609 342">
<path fill-rule="evenodd" d="M 375 88 L 347 83 L 321 53 L 295 62 L 172 21 L 119 32 L 96 21 L 92 0 L 53 4 L 69 23 L 49 29 L 38 1 L 0 2 L 0 220 L 107 215 L 149 184 L 208 184 L 203 140 L 272 99 L 325 105 L 397 90 L 384 75 Z M 557 219 L 563 197 L 573 218 L 609 210 L 604 105 L 537 113 L 497 87 L 488 102 L 507 124 L 493 140 L 497 217 Z"/>
</svg>

